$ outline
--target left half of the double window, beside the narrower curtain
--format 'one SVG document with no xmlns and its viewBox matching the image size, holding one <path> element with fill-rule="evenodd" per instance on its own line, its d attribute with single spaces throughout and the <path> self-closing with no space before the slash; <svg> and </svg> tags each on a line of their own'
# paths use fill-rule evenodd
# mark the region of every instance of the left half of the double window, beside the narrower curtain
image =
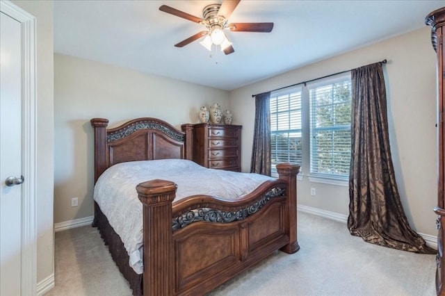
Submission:
<svg viewBox="0 0 445 296">
<path fill-rule="evenodd" d="M 272 176 L 277 163 L 302 162 L 301 88 L 270 94 Z"/>
</svg>

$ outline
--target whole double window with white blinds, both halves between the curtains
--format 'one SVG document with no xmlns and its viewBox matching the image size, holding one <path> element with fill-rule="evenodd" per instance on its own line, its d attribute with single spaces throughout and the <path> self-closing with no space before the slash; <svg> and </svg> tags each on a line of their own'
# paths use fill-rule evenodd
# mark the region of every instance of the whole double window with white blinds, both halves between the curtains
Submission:
<svg viewBox="0 0 445 296">
<path fill-rule="evenodd" d="M 272 92 L 272 175 L 291 162 L 301 165 L 300 178 L 304 169 L 310 181 L 347 185 L 350 120 L 350 73 Z"/>
</svg>

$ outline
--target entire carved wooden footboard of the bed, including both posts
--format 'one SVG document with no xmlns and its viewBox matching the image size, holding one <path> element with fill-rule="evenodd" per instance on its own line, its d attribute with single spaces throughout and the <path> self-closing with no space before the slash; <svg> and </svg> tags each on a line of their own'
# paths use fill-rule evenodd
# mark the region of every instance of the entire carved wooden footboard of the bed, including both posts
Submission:
<svg viewBox="0 0 445 296">
<path fill-rule="evenodd" d="M 144 295 L 203 295 L 277 249 L 295 253 L 296 175 L 300 166 L 277 165 L 280 178 L 245 199 L 199 195 L 172 204 L 176 184 L 140 183 L 143 203 Z"/>
</svg>

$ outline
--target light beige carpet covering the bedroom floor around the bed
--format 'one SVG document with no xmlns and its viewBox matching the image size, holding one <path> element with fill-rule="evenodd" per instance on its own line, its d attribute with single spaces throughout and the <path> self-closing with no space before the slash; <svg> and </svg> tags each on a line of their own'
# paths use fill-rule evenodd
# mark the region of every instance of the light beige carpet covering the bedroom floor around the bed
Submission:
<svg viewBox="0 0 445 296">
<path fill-rule="evenodd" d="M 298 212 L 300 251 L 275 252 L 209 295 L 435 295 L 435 256 L 380 247 L 346 224 Z M 131 295 L 96 229 L 56 233 L 56 287 L 46 295 Z"/>
</svg>

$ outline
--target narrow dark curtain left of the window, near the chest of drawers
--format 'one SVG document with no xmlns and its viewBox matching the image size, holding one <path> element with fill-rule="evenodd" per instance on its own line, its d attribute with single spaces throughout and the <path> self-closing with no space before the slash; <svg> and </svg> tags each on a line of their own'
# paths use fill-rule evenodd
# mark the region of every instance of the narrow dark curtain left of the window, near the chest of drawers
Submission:
<svg viewBox="0 0 445 296">
<path fill-rule="evenodd" d="M 255 125 L 250 172 L 270 176 L 270 146 L 270 92 L 264 92 L 255 96 Z"/>
</svg>

